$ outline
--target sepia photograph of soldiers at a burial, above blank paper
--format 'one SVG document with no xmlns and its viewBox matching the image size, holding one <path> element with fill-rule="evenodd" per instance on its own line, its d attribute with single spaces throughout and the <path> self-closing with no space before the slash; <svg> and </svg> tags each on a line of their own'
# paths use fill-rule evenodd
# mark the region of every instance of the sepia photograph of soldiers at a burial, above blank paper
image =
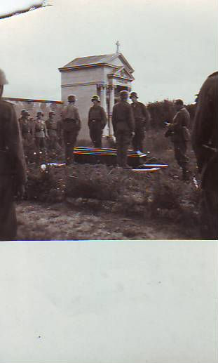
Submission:
<svg viewBox="0 0 218 363">
<path fill-rule="evenodd" d="M 1 240 L 217 239 L 216 5 L 1 5 Z"/>
</svg>

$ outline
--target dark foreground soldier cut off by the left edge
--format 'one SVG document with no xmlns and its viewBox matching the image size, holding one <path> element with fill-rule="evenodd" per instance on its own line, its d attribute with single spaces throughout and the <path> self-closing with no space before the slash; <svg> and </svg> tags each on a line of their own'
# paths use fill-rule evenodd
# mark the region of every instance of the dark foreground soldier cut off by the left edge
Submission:
<svg viewBox="0 0 218 363">
<path fill-rule="evenodd" d="M 20 127 L 11 103 L 1 100 L 8 84 L 0 70 L 0 240 L 15 239 L 17 220 L 14 196 L 22 197 L 26 182 Z"/>
</svg>

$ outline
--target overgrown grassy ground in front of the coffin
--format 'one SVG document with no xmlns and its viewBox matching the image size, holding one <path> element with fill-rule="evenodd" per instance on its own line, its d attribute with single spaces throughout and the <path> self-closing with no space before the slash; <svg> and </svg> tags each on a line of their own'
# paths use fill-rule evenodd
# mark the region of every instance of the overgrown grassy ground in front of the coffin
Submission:
<svg viewBox="0 0 218 363">
<path fill-rule="evenodd" d="M 102 164 L 47 173 L 29 167 L 26 200 L 17 207 L 18 239 L 198 239 L 191 147 L 192 177 L 186 182 L 163 131 L 148 131 L 144 150 L 148 160 L 167 163 L 168 169 L 145 175 Z"/>
</svg>

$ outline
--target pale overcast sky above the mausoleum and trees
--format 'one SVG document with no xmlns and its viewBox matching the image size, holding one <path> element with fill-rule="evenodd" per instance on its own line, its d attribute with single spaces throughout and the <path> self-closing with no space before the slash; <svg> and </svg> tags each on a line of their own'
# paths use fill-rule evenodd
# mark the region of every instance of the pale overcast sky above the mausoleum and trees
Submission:
<svg viewBox="0 0 218 363">
<path fill-rule="evenodd" d="M 31 3 L 14 1 L 19 2 Z M 57 68 L 77 57 L 115 53 L 116 40 L 135 69 L 132 90 L 146 103 L 164 98 L 192 103 L 217 68 L 217 0 L 49 4 L 0 20 L 0 67 L 10 82 L 6 96 L 60 100 Z M 0 11 L 6 12 L 5 4 Z"/>
</svg>

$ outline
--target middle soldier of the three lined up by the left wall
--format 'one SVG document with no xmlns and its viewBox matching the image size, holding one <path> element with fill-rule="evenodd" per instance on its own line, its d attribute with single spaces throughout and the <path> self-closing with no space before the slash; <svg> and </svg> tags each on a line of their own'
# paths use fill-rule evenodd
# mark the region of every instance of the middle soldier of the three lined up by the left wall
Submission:
<svg viewBox="0 0 218 363">
<path fill-rule="evenodd" d="M 43 112 L 41 111 L 38 111 L 36 113 L 36 119 L 32 123 L 32 134 L 35 139 L 37 152 L 45 151 L 48 132 L 46 128 L 46 123 L 43 120 Z"/>
</svg>

